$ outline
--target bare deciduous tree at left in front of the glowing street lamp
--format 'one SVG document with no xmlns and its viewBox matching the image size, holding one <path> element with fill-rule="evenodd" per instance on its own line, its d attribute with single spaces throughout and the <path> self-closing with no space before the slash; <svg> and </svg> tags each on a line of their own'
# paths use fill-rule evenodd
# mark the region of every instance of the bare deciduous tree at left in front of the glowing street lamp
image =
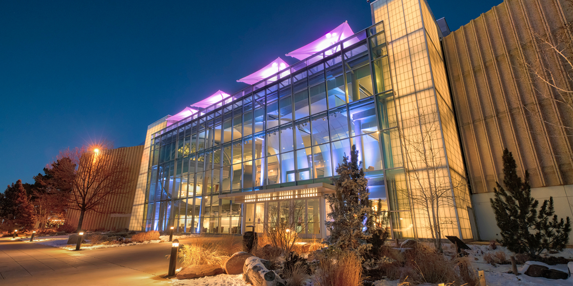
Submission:
<svg viewBox="0 0 573 286">
<path fill-rule="evenodd" d="M 54 177 L 72 182 L 68 208 L 80 211 L 77 231 L 81 230 L 88 210 L 103 213 L 105 211 L 101 206 L 110 197 L 126 192 L 128 165 L 123 158 L 113 156 L 108 146 L 68 148 L 60 152 L 58 159 L 69 158 L 76 168 L 71 172 L 52 169 Z"/>
</svg>

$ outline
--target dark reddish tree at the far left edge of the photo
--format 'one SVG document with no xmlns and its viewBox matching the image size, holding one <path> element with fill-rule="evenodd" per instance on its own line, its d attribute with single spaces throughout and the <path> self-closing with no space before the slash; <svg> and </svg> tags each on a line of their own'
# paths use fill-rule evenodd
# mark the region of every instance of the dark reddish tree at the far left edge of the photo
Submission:
<svg viewBox="0 0 573 286">
<path fill-rule="evenodd" d="M 5 220 L 20 231 L 33 228 L 35 222 L 34 206 L 28 201 L 28 194 L 22 185 L 22 180 L 8 186 L 2 201 L 2 214 Z"/>
</svg>

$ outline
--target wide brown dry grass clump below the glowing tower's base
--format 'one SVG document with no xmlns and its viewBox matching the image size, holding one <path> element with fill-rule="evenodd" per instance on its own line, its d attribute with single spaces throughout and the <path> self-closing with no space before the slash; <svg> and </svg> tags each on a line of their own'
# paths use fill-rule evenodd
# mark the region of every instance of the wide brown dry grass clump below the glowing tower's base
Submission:
<svg viewBox="0 0 573 286">
<path fill-rule="evenodd" d="M 462 285 L 477 283 L 475 271 L 466 257 L 450 259 L 438 253 L 435 248 L 418 243 L 415 248 L 407 249 L 404 253 L 386 251 L 393 263 L 382 263 L 379 269 L 390 280 L 407 280 L 410 283 L 450 283 Z M 452 282 L 453 281 L 453 282 Z"/>
</svg>

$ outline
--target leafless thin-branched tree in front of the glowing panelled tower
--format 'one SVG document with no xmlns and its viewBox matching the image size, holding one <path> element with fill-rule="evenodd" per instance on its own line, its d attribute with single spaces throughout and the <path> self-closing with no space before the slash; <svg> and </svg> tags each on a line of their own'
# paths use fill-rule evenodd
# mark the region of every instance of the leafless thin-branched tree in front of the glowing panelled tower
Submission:
<svg viewBox="0 0 573 286">
<path fill-rule="evenodd" d="M 437 112 L 418 112 L 400 132 L 405 149 L 405 169 L 410 183 L 407 197 L 414 216 L 431 233 L 435 247 L 441 251 L 442 231 L 456 221 L 445 216 L 454 209 L 454 190 L 465 188 L 466 181 L 456 181 L 446 165 Z"/>
</svg>

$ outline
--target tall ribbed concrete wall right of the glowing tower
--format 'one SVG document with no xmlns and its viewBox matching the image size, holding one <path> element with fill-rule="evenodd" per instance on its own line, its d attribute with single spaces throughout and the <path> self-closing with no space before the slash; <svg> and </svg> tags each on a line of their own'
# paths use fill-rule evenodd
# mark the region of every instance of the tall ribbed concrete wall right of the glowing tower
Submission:
<svg viewBox="0 0 573 286">
<path fill-rule="evenodd" d="M 513 153 L 520 176 L 528 170 L 532 187 L 573 184 L 571 102 L 548 99 L 560 94 L 524 66 L 543 67 L 544 77 L 573 90 L 566 77 L 571 66 L 535 38 L 571 41 L 571 30 L 564 29 L 571 25 L 571 8 L 567 1 L 507 0 L 444 38 L 473 193 L 493 192 L 503 180 L 504 148 Z M 571 46 L 564 53 L 573 59 Z"/>
</svg>

